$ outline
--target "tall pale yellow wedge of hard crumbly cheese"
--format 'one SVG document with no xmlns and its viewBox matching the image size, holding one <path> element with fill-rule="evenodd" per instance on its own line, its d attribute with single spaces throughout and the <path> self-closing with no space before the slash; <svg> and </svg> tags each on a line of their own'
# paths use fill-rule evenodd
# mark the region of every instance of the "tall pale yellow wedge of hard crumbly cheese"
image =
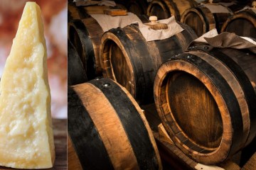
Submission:
<svg viewBox="0 0 256 170">
<path fill-rule="evenodd" d="M 46 40 L 40 7 L 27 2 L 0 83 L 0 165 L 43 169 L 55 159 Z"/>
</svg>

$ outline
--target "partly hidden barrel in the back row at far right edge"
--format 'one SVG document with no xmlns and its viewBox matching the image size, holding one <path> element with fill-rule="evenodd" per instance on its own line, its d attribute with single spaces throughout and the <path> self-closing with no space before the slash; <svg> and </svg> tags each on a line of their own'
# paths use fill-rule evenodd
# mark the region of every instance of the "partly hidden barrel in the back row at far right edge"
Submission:
<svg viewBox="0 0 256 170">
<path fill-rule="evenodd" d="M 235 13 L 225 21 L 221 32 L 256 38 L 256 13 L 250 9 Z"/>
</svg>

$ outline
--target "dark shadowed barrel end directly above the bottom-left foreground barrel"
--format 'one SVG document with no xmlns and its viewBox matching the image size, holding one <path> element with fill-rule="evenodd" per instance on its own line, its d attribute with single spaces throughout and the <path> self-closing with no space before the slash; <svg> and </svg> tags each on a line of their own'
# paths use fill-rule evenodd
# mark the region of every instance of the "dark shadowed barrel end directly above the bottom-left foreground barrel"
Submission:
<svg viewBox="0 0 256 170">
<path fill-rule="evenodd" d="M 82 84 L 87 75 L 74 45 L 68 40 L 68 85 Z"/>
</svg>

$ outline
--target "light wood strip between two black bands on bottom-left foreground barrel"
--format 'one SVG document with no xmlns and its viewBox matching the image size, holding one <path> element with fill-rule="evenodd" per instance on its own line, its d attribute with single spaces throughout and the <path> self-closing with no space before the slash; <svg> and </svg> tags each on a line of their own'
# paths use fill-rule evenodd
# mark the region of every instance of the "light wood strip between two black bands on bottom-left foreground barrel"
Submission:
<svg viewBox="0 0 256 170">
<path fill-rule="evenodd" d="M 139 169 L 132 145 L 128 142 L 129 138 L 122 127 L 122 120 L 112 107 L 112 103 L 105 94 L 98 92 L 99 89 L 95 87 L 95 84 L 82 85 L 77 86 L 75 91 L 80 95 L 83 106 L 90 112 L 90 118 L 97 128 L 114 169 L 124 167 Z M 87 98 L 90 98 L 92 102 L 87 101 Z M 100 108 L 95 107 L 97 103 L 101 103 Z"/>
</svg>

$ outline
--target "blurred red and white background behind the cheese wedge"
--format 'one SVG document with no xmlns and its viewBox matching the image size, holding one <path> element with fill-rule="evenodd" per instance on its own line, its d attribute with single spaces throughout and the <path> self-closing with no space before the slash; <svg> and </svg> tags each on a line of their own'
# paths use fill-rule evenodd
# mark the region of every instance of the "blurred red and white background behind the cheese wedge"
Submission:
<svg viewBox="0 0 256 170">
<path fill-rule="evenodd" d="M 67 118 L 67 0 L 38 0 L 48 52 L 48 79 L 53 118 Z M 16 35 L 26 0 L 0 1 L 0 77 Z"/>
</svg>

